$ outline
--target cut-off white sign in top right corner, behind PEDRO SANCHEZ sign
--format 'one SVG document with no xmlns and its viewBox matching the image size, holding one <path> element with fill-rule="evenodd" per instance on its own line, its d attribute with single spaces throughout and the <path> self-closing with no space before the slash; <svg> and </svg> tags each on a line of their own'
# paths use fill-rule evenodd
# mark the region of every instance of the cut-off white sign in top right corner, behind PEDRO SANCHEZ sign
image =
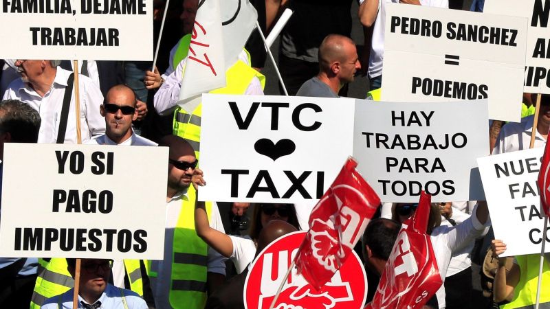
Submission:
<svg viewBox="0 0 550 309">
<path fill-rule="evenodd" d="M 524 90 L 550 93 L 550 3 L 542 0 L 487 0 L 483 13 L 521 16 L 529 19 L 525 54 Z"/>
</svg>

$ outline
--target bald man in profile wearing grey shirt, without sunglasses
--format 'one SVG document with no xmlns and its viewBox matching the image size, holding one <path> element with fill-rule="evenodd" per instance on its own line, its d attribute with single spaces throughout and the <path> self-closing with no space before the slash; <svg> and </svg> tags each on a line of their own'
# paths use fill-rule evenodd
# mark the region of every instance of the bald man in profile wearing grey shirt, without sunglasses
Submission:
<svg viewBox="0 0 550 309">
<path fill-rule="evenodd" d="M 307 80 L 296 95 L 338 98 L 344 84 L 353 82 L 361 69 L 355 43 L 347 36 L 329 34 L 319 47 L 319 73 Z"/>
</svg>

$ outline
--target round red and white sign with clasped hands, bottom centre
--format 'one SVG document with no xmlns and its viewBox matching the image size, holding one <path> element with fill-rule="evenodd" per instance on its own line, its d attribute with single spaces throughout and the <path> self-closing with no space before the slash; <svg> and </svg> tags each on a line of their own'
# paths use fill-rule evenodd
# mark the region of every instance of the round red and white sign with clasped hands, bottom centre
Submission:
<svg viewBox="0 0 550 309">
<path fill-rule="evenodd" d="M 245 282 L 243 297 L 246 309 L 270 308 L 305 236 L 305 231 L 297 231 L 278 238 L 254 260 Z M 315 290 L 294 268 L 273 308 L 363 308 L 366 275 L 357 253 L 352 252 L 347 262 L 320 290 Z"/>
</svg>

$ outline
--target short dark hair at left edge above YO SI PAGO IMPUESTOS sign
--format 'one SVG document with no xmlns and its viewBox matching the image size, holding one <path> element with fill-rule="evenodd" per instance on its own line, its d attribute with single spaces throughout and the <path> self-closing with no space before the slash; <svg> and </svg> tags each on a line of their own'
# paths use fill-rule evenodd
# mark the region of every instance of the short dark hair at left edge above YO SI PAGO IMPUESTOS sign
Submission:
<svg viewBox="0 0 550 309">
<path fill-rule="evenodd" d="M 10 133 L 14 143 L 36 143 L 39 139 L 40 114 L 19 100 L 0 102 L 0 131 Z"/>
</svg>

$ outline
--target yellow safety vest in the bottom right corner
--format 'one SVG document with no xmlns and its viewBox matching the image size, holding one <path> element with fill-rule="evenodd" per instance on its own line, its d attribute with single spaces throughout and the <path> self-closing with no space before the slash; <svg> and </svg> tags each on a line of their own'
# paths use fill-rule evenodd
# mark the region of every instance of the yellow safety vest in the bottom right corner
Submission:
<svg viewBox="0 0 550 309">
<path fill-rule="evenodd" d="M 511 308 L 535 308 L 538 283 L 538 265 L 540 255 L 518 255 L 516 256 L 521 275 L 518 285 L 514 289 L 514 299 L 508 304 L 500 306 L 502 309 Z M 548 260 L 544 260 L 542 268 L 542 285 L 540 288 L 540 309 L 550 308 L 550 267 Z"/>
</svg>

